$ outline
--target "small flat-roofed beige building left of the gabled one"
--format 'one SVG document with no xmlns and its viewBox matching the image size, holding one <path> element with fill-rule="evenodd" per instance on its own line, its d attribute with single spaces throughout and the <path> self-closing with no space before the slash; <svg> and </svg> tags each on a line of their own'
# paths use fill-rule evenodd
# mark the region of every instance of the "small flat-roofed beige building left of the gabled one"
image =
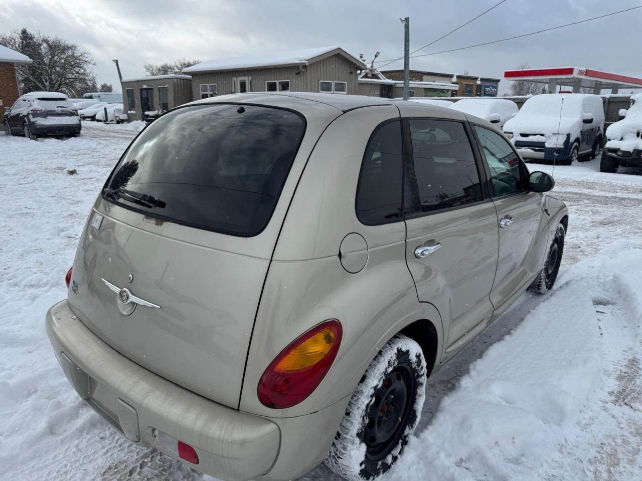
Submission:
<svg viewBox="0 0 642 481">
<path fill-rule="evenodd" d="M 123 110 L 129 120 L 144 120 L 193 100 L 189 75 L 155 75 L 121 81 Z"/>
</svg>

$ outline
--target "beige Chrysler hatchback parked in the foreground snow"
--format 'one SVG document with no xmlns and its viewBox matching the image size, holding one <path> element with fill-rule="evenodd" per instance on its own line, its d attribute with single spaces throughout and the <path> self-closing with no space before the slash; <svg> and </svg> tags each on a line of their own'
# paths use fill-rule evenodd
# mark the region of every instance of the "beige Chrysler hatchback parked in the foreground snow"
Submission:
<svg viewBox="0 0 642 481">
<path fill-rule="evenodd" d="M 387 471 L 427 376 L 551 288 L 568 224 L 498 128 L 435 110 L 275 92 L 158 117 L 46 316 L 78 394 L 224 480 Z"/>
</svg>

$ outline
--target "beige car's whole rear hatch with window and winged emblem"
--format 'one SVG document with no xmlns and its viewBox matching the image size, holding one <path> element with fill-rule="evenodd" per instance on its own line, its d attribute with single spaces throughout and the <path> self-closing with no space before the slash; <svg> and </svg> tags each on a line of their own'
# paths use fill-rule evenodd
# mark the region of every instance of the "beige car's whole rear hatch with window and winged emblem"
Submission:
<svg viewBox="0 0 642 481">
<path fill-rule="evenodd" d="M 302 115 L 256 105 L 191 105 L 150 124 L 78 246 L 69 303 L 83 323 L 141 366 L 238 407 L 282 197 L 312 145 L 300 146 L 305 130 Z"/>
</svg>

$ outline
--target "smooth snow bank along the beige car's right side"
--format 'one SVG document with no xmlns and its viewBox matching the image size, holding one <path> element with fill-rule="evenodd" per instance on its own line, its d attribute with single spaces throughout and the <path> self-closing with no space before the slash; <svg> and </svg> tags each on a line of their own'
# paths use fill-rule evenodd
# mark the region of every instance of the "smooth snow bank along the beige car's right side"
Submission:
<svg viewBox="0 0 642 481">
<path fill-rule="evenodd" d="M 601 384 L 600 333 L 586 291 L 581 282 L 564 285 L 489 348 L 390 479 L 532 477 Z"/>
</svg>

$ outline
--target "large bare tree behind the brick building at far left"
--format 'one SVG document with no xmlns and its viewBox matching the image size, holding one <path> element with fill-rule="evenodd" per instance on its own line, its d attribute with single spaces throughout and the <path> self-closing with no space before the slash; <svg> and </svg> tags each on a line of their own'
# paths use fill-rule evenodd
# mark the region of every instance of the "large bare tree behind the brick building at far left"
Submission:
<svg viewBox="0 0 642 481">
<path fill-rule="evenodd" d="M 96 85 L 96 64 L 89 53 L 62 38 L 31 33 L 23 28 L 0 35 L 0 45 L 33 60 L 27 65 L 15 66 L 22 92 L 45 90 L 76 97 L 87 87 Z"/>
</svg>

